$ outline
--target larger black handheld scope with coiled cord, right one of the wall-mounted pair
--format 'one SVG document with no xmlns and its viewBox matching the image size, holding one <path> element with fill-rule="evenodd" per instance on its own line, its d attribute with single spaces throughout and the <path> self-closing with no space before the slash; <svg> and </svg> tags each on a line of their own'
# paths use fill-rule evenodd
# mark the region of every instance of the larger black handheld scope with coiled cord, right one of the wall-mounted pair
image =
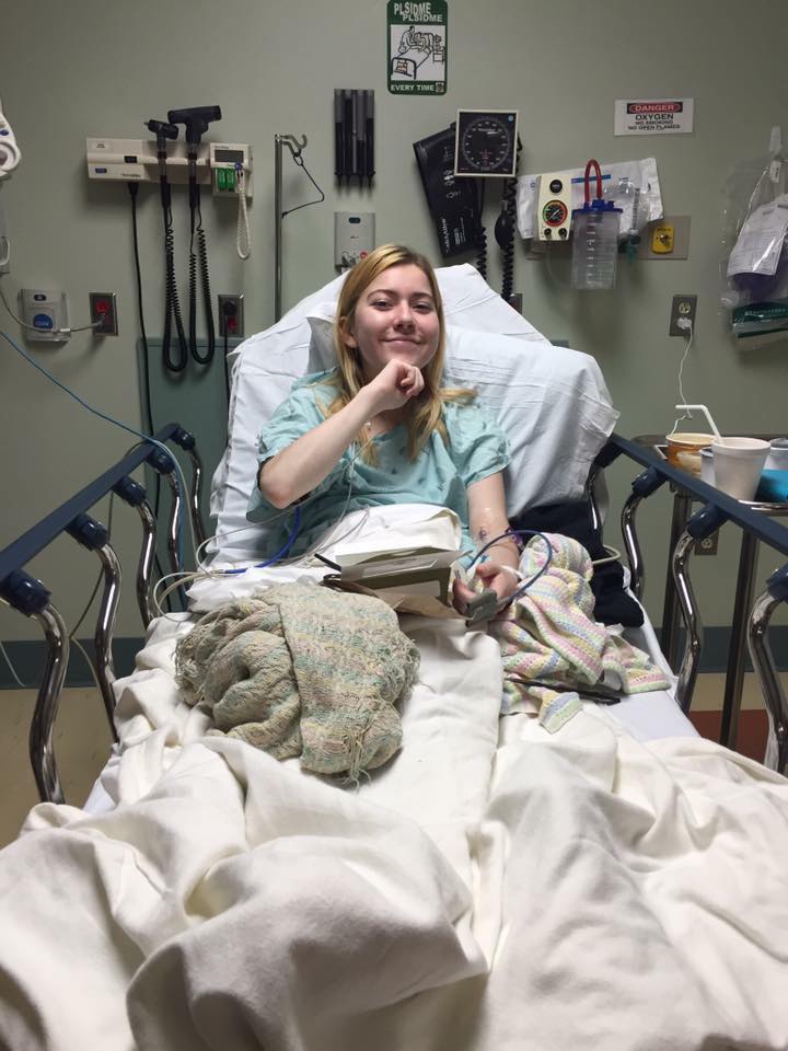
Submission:
<svg viewBox="0 0 788 1051">
<path fill-rule="evenodd" d="M 189 181 L 189 351 L 198 365 L 210 365 L 216 349 L 216 330 L 213 326 L 213 308 L 210 296 L 210 278 L 208 276 L 208 250 L 206 235 L 202 229 L 202 213 L 200 211 L 200 189 L 197 183 L 197 147 L 204 132 L 213 120 L 221 120 L 219 106 L 194 106 L 188 109 L 170 109 L 170 124 L 183 124 L 186 129 L 188 181 Z M 197 238 L 197 253 L 195 253 L 195 235 Z M 202 308 L 206 321 L 206 340 L 208 349 L 205 356 L 197 350 L 197 265 L 199 256 L 199 272 L 202 285 Z"/>
</svg>

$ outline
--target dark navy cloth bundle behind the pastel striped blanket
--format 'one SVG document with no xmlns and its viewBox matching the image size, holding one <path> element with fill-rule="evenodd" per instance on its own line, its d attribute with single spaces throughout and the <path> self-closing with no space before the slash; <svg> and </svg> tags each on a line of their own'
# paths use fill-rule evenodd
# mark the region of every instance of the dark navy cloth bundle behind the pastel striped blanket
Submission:
<svg viewBox="0 0 788 1051">
<path fill-rule="evenodd" d="M 511 520 L 511 527 L 571 536 L 583 545 L 592 559 L 609 556 L 602 544 L 601 532 L 593 528 L 591 505 L 588 500 L 529 508 Z M 640 603 L 624 590 L 624 567 L 618 561 L 594 566 L 591 590 L 594 593 L 594 615 L 598 621 L 603 624 L 623 624 L 625 627 L 641 626 L 644 611 Z"/>
</svg>

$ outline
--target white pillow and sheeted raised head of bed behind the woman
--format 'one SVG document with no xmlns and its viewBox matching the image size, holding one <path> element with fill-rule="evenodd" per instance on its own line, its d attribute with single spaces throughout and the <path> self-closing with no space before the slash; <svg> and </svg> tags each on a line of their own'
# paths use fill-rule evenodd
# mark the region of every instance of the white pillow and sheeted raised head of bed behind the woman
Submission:
<svg viewBox="0 0 788 1051">
<path fill-rule="evenodd" d="M 577 499 L 618 416 L 595 360 L 549 344 L 473 267 L 436 273 L 449 322 L 447 384 L 476 388 L 509 438 L 509 513 Z M 293 380 L 334 365 L 331 324 L 343 280 L 344 275 L 302 300 L 232 355 L 230 439 L 213 475 L 210 504 L 228 558 L 265 553 L 265 527 L 246 521 L 258 435 Z M 474 324 L 478 331 L 457 327 Z"/>
</svg>

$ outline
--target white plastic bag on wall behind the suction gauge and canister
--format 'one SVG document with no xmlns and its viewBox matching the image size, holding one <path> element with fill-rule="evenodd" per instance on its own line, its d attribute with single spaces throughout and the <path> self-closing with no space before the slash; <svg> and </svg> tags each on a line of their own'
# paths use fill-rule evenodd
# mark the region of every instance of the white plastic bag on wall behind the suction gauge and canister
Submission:
<svg viewBox="0 0 788 1051">
<path fill-rule="evenodd" d="M 647 157 L 641 161 L 622 161 L 617 164 L 601 164 L 602 193 L 622 209 L 618 235 L 627 238 L 640 232 L 647 223 L 661 219 L 662 194 L 660 192 L 657 161 Z M 582 208 L 584 197 L 584 168 L 565 169 L 572 181 L 572 208 Z M 518 180 L 517 212 L 518 230 L 523 240 L 537 235 L 536 208 L 538 204 L 540 174 L 523 175 Z"/>
</svg>

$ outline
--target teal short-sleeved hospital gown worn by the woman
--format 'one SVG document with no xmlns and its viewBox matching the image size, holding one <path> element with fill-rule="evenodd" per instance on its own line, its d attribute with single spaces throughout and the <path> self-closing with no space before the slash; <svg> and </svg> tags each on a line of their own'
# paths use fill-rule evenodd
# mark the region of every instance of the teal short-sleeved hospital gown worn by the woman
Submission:
<svg viewBox="0 0 788 1051">
<path fill-rule="evenodd" d="M 327 408 L 336 397 L 333 374 L 318 372 L 296 381 L 260 432 L 259 463 L 323 423 L 325 415 L 320 406 Z M 443 417 L 449 447 L 433 431 L 415 461 L 408 458 L 407 430 L 402 424 L 373 439 L 379 455 L 375 466 L 360 457 L 354 460 L 356 444 L 351 444 L 302 503 L 301 526 L 290 554 L 306 551 L 343 515 L 383 504 L 451 508 L 462 523 L 463 550 L 473 550 L 465 490 L 474 482 L 502 471 L 509 463 L 509 448 L 498 424 L 476 401 L 450 402 Z M 282 516 L 265 499 L 256 481 L 246 517 L 252 522 L 271 519 L 271 554 L 287 542 L 293 526 L 293 511 Z"/>
</svg>

